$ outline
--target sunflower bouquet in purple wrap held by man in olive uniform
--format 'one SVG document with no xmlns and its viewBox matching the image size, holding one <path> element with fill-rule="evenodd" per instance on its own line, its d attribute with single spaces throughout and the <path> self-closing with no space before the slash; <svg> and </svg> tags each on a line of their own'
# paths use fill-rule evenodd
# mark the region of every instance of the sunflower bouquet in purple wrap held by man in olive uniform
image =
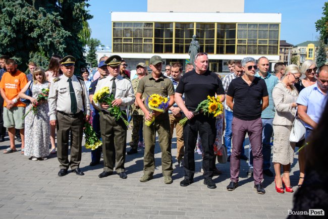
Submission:
<svg viewBox="0 0 328 219">
<path fill-rule="evenodd" d="M 146 104 L 150 108 L 150 113 L 152 113 L 152 111 L 164 113 L 169 105 L 169 99 L 153 93 L 147 97 Z M 145 125 L 150 126 L 154 121 L 155 117 L 152 117 L 151 121 L 146 120 Z"/>
</svg>

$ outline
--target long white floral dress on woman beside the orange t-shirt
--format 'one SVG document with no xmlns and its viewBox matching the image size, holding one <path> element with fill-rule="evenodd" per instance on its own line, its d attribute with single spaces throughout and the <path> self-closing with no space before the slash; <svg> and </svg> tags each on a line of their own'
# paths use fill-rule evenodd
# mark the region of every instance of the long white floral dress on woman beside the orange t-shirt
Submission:
<svg viewBox="0 0 328 219">
<path fill-rule="evenodd" d="M 33 83 L 33 82 L 32 82 Z M 43 88 L 48 88 L 49 82 L 32 85 L 32 96 L 37 98 Z M 44 101 L 44 100 L 43 100 Z M 29 111 L 32 104 L 27 105 L 25 113 Z M 31 111 L 25 117 L 25 149 L 26 156 L 44 157 L 49 155 L 50 124 L 49 124 L 48 102 L 44 101 L 37 106 L 37 113 Z"/>
</svg>

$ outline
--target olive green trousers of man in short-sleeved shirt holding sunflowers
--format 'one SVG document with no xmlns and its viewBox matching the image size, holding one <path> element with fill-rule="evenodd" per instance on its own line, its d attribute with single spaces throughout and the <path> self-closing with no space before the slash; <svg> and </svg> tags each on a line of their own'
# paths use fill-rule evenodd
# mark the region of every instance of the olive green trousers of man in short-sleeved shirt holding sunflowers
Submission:
<svg viewBox="0 0 328 219">
<path fill-rule="evenodd" d="M 163 120 L 155 120 L 150 126 L 143 126 L 145 152 L 143 158 L 144 175 L 152 176 L 155 171 L 155 137 L 158 133 L 158 142 L 161 150 L 161 166 L 163 176 L 172 176 L 171 129 L 169 116 Z"/>
</svg>

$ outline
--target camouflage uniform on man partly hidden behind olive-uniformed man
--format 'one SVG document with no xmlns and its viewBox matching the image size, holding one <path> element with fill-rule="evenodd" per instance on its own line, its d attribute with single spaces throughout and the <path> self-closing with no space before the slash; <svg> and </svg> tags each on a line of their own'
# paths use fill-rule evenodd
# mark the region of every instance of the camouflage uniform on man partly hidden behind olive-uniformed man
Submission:
<svg viewBox="0 0 328 219">
<path fill-rule="evenodd" d="M 131 81 L 134 93 L 137 93 L 139 81 L 140 81 L 139 78 L 135 78 Z M 138 147 L 139 131 L 140 131 L 140 126 L 143 123 L 144 115 L 145 114 L 142 112 L 142 109 L 140 107 L 137 107 L 135 104 L 132 104 L 133 129 L 132 129 L 130 147 L 135 148 L 135 149 L 137 149 L 137 147 Z"/>
</svg>

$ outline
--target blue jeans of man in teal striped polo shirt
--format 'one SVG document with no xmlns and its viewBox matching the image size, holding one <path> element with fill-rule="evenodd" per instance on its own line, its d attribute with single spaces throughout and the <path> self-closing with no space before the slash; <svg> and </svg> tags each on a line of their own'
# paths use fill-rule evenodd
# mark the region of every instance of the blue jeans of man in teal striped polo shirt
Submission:
<svg viewBox="0 0 328 219">
<path fill-rule="evenodd" d="M 263 153 L 263 170 L 270 169 L 271 159 L 271 145 L 270 140 L 274 133 L 274 127 L 272 126 L 274 118 L 263 119 L 262 118 L 262 153 Z M 252 146 L 249 144 L 249 168 L 253 168 L 253 154 Z"/>
</svg>

